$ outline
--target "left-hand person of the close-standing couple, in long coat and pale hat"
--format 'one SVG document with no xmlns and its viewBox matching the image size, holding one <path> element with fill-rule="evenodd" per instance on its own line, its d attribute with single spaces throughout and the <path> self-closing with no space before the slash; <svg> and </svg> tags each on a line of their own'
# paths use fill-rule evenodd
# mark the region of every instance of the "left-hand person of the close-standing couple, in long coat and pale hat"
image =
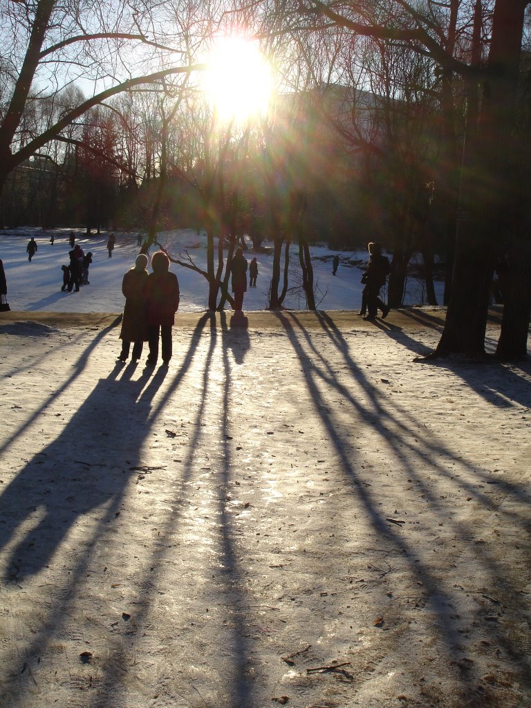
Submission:
<svg viewBox="0 0 531 708">
<path fill-rule="evenodd" d="M 125 307 L 122 316 L 122 329 L 120 330 L 120 339 L 122 340 L 122 351 L 118 357 L 120 361 L 127 361 L 131 342 L 133 342 L 131 358 L 133 361 L 138 361 L 142 356 L 144 342 L 147 341 L 145 295 L 148 278 L 147 262 L 147 256 L 144 253 L 139 253 L 135 267 L 127 270 L 122 280 Z"/>
</svg>

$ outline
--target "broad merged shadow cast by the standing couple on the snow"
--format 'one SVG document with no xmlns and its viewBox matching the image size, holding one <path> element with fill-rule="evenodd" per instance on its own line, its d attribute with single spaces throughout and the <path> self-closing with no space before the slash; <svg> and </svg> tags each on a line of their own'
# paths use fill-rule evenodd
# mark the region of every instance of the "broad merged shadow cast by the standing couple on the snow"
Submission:
<svg viewBox="0 0 531 708">
<path fill-rule="evenodd" d="M 118 515 L 160 381 L 100 379 L 62 433 L 25 465 L 0 497 L 0 548 L 14 542 L 4 581 L 18 582 L 50 563 L 67 535 L 64 563 L 79 556 Z M 161 372 L 164 376 L 164 371 Z M 83 519 L 90 514 L 89 519 Z M 86 532 L 80 528 L 83 525 Z"/>
</svg>

